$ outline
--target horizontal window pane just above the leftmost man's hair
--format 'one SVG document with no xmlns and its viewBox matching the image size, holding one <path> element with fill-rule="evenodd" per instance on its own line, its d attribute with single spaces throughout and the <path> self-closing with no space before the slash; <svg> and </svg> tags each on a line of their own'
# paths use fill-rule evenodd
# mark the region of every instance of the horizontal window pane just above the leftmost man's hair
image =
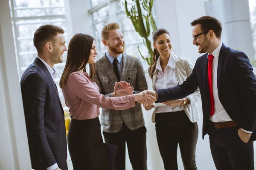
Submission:
<svg viewBox="0 0 256 170">
<path fill-rule="evenodd" d="M 66 20 L 62 18 L 41 19 L 41 20 L 20 20 L 16 22 L 18 37 L 33 37 L 37 28 L 45 24 L 52 24 L 67 30 Z"/>
</svg>

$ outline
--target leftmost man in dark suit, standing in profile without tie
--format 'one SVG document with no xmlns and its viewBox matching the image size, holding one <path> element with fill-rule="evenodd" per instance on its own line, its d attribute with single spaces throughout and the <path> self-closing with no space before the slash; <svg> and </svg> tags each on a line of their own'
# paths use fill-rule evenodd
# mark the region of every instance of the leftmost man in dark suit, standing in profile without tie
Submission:
<svg viewBox="0 0 256 170">
<path fill-rule="evenodd" d="M 54 82 L 53 66 L 67 51 L 64 30 L 39 27 L 34 34 L 38 57 L 24 71 L 21 92 L 32 168 L 67 170 L 67 138 L 64 111 Z"/>
</svg>

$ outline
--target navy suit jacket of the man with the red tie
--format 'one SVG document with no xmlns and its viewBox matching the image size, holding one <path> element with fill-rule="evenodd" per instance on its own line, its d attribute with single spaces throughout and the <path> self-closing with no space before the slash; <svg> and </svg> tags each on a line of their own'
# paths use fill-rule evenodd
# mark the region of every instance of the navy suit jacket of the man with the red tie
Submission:
<svg viewBox="0 0 256 170">
<path fill-rule="evenodd" d="M 197 59 L 192 74 L 182 85 L 157 90 L 157 102 L 164 102 L 186 97 L 199 86 L 203 107 L 203 139 L 210 113 L 207 55 Z M 253 132 L 256 124 L 256 78 L 246 54 L 222 45 L 218 58 L 217 85 L 220 102 L 230 118 L 239 127 Z"/>
</svg>

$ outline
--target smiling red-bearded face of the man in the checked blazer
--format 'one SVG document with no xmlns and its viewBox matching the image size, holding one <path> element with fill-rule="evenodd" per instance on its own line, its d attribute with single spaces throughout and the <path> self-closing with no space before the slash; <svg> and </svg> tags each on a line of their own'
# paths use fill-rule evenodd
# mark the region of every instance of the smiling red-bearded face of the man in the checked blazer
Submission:
<svg viewBox="0 0 256 170">
<path fill-rule="evenodd" d="M 120 29 L 109 31 L 108 40 L 105 40 L 105 42 L 110 55 L 111 53 L 115 55 L 122 54 L 125 50 L 125 41 Z"/>
</svg>

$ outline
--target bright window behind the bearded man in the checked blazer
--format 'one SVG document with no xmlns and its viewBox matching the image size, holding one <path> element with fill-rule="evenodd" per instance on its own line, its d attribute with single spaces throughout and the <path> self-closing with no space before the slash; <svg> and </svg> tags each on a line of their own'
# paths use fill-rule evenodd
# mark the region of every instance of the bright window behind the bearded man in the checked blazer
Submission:
<svg viewBox="0 0 256 170">
<path fill-rule="evenodd" d="M 139 46 L 144 57 L 148 55 L 148 49 L 143 44 L 143 38 L 135 31 L 131 20 L 127 17 L 124 2 L 125 0 L 110 0 L 104 2 L 102 0 L 91 0 L 92 8 L 89 10 L 89 14 L 92 14 L 93 17 L 93 27 L 95 30 L 94 38 L 98 50 L 97 58 L 101 58 L 107 51 L 107 48 L 102 43 L 102 28 L 108 23 L 116 22 L 119 24 L 124 35 L 125 53 L 140 58 L 143 67 L 147 70 L 148 64 L 140 56 L 137 46 Z M 128 8 L 131 8 L 135 3 L 133 0 L 127 0 L 127 2 Z"/>
</svg>

